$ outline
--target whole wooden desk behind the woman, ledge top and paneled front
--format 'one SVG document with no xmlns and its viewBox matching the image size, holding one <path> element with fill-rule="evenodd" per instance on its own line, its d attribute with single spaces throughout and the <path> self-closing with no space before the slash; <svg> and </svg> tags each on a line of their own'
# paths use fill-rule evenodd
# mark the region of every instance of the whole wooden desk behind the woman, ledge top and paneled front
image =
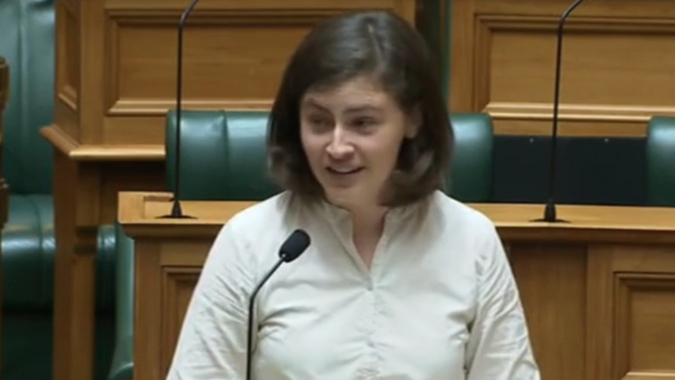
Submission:
<svg viewBox="0 0 675 380">
<path fill-rule="evenodd" d="M 160 380 L 212 241 L 248 202 L 186 201 L 196 219 L 156 219 L 170 195 L 122 192 L 136 239 L 134 377 Z M 515 272 L 545 380 L 675 379 L 675 208 L 476 204 Z"/>
</svg>

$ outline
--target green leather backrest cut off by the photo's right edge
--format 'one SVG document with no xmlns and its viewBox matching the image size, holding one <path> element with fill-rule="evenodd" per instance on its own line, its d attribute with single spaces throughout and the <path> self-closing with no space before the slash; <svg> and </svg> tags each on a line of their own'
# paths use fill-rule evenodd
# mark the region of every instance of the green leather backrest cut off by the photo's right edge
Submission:
<svg viewBox="0 0 675 380">
<path fill-rule="evenodd" d="M 675 207 L 675 118 L 654 116 L 647 125 L 647 201 Z"/>
</svg>

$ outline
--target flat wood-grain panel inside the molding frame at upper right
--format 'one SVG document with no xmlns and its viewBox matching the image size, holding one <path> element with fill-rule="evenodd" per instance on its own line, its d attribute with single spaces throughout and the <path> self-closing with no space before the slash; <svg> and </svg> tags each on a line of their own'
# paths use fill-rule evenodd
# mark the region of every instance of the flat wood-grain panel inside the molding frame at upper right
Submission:
<svg viewBox="0 0 675 380">
<path fill-rule="evenodd" d="M 481 36 L 491 42 L 486 46 L 490 102 L 527 104 L 551 97 L 556 35 L 550 23 L 481 17 L 479 28 L 490 33 Z M 636 108 L 638 93 L 645 105 L 672 107 L 675 89 L 662 84 L 672 78 L 675 67 L 675 55 L 667 53 L 675 37 L 673 26 L 575 18 L 565 30 L 564 91 L 571 94 L 566 104 L 573 102 L 579 111 L 602 105 L 609 110 Z"/>
</svg>

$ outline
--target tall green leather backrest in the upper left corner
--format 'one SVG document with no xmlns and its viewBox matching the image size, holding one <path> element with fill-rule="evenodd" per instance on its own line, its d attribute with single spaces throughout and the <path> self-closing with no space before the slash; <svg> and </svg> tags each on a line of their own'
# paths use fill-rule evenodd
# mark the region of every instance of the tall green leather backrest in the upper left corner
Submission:
<svg viewBox="0 0 675 380">
<path fill-rule="evenodd" d="M 39 129 L 53 123 L 54 1 L 0 0 L 0 55 L 10 66 L 3 166 L 12 194 L 52 192 L 52 148 Z"/>
</svg>

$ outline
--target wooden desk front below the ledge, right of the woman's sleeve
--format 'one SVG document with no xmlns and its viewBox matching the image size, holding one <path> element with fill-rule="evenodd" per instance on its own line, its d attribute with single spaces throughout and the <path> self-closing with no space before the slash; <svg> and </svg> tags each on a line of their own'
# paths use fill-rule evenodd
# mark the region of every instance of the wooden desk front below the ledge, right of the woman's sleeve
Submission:
<svg viewBox="0 0 675 380">
<path fill-rule="evenodd" d="M 675 379 L 675 245 L 503 238 L 542 379 Z"/>
</svg>

